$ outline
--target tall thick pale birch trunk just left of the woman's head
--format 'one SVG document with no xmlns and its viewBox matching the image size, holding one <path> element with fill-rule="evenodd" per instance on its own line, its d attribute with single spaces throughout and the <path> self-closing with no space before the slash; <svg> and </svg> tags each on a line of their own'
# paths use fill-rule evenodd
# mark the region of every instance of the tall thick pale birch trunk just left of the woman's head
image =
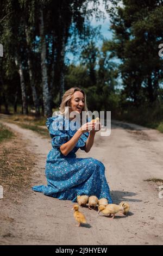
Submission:
<svg viewBox="0 0 163 256">
<path fill-rule="evenodd" d="M 43 24 L 43 11 L 40 11 L 40 39 L 41 39 L 41 71 L 42 71 L 42 92 L 43 92 L 43 109 L 45 117 L 52 115 L 50 101 L 49 101 L 49 88 L 48 88 L 48 77 L 47 77 L 47 66 L 46 66 L 46 40 L 44 35 L 44 24 Z"/>
</svg>

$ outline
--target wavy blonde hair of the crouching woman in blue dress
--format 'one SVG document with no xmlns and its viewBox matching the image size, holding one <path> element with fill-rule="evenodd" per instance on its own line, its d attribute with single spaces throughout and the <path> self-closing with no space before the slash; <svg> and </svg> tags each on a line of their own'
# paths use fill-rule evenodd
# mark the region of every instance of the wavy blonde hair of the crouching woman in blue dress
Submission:
<svg viewBox="0 0 163 256">
<path fill-rule="evenodd" d="M 84 107 L 83 107 L 82 111 L 87 111 L 86 94 L 85 94 L 84 90 L 82 90 L 78 87 L 72 87 L 69 90 L 67 90 L 64 93 L 64 95 L 62 96 L 62 101 L 61 101 L 61 104 L 60 104 L 60 107 L 59 107 L 59 110 L 60 110 L 61 114 L 63 114 L 63 115 L 65 114 L 65 109 L 66 109 L 66 107 L 68 107 L 70 105 L 72 95 L 75 92 L 83 93 L 83 95 L 84 95 Z M 80 115 L 82 115 L 82 112 L 81 112 Z"/>
</svg>

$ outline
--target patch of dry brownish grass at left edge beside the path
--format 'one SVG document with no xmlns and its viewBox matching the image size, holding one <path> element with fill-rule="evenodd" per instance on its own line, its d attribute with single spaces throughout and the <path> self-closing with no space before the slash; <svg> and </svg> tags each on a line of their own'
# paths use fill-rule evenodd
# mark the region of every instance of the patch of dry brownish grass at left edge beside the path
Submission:
<svg viewBox="0 0 163 256">
<path fill-rule="evenodd" d="M 4 187 L 4 199 L 29 187 L 35 156 L 26 150 L 20 137 L 14 135 L 0 144 L 0 184 Z"/>
</svg>

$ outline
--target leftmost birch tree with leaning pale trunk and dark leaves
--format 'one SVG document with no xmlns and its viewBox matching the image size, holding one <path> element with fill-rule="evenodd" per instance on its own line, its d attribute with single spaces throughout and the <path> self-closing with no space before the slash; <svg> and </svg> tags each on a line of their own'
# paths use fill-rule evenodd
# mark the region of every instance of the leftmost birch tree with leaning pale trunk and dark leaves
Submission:
<svg viewBox="0 0 163 256">
<path fill-rule="evenodd" d="M 23 75 L 23 62 L 25 62 L 25 52 L 26 44 L 24 43 L 24 33 L 23 33 L 23 23 L 20 11 L 20 5 L 17 1 L 8 0 L 3 4 L 3 19 L 2 22 L 2 41 L 5 48 L 5 76 L 10 76 L 14 74 L 15 66 L 17 66 L 17 71 L 20 75 L 20 84 L 22 92 L 22 112 L 24 114 L 28 113 L 27 106 L 27 94 L 26 94 L 26 84 Z M 4 81 L 4 79 L 3 79 Z"/>
</svg>

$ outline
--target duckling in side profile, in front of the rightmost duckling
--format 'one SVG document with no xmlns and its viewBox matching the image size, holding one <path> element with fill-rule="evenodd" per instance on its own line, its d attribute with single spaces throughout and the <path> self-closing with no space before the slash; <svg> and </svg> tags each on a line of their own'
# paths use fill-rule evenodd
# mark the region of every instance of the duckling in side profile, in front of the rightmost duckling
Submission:
<svg viewBox="0 0 163 256">
<path fill-rule="evenodd" d="M 124 211 L 123 206 L 117 205 L 117 204 L 108 204 L 106 206 L 104 205 L 99 205 L 98 206 L 98 214 L 99 212 L 101 212 L 105 215 L 111 215 L 112 214 L 112 218 L 114 218 L 115 214 L 117 214 L 117 212 L 122 212 Z"/>
</svg>

